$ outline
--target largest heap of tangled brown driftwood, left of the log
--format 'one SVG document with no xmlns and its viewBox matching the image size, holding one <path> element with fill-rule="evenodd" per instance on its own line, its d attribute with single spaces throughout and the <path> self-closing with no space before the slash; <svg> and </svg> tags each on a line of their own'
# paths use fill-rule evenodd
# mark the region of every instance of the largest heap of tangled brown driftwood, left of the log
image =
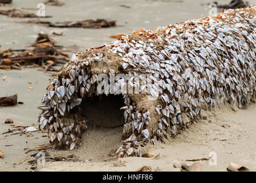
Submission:
<svg viewBox="0 0 256 183">
<path fill-rule="evenodd" d="M 33 50 L 0 51 L 0 69 L 22 69 L 21 65 L 42 66 L 45 70 L 56 71 L 54 65 L 68 62 L 69 55 L 61 53 L 57 49 L 56 42 L 48 34 L 38 34 Z M 47 65 L 46 65 L 47 63 Z"/>
</svg>

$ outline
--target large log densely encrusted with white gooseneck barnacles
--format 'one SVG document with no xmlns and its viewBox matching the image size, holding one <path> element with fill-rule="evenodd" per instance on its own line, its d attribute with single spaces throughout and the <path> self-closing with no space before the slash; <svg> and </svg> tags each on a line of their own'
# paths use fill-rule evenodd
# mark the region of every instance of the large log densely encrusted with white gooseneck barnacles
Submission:
<svg viewBox="0 0 256 183">
<path fill-rule="evenodd" d="M 123 94 L 126 140 L 117 150 L 120 157 L 141 156 L 141 143 L 174 136 L 198 120 L 202 109 L 224 102 L 238 108 L 249 104 L 256 93 L 255 12 L 250 6 L 143 29 L 73 55 L 42 98 L 40 128 L 58 148 L 79 145 L 86 128 L 81 102 L 97 96 L 99 74 L 111 76 L 113 70 L 115 75 L 145 74 L 153 81 L 137 94 Z M 123 86 L 124 80 L 114 82 Z M 152 100 L 156 92 L 159 97 Z"/>
</svg>

